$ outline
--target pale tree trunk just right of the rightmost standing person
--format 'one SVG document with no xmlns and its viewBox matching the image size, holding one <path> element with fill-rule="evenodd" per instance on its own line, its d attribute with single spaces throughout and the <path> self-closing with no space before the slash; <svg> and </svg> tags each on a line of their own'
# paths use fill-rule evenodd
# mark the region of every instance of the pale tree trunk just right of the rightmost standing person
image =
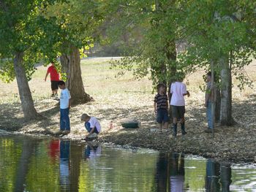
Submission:
<svg viewBox="0 0 256 192">
<path fill-rule="evenodd" d="M 220 123 L 222 126 L 231 126 L 232 118 L 232 77 L 227 57 L 221 58 L 221 104 Z"/>
</svg>

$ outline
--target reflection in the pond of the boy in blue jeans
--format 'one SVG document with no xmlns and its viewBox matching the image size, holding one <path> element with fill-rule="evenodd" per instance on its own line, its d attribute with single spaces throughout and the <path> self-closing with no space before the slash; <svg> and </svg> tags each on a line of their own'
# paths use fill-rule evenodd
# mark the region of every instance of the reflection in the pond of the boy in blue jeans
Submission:
<svg viewBox="0 0 256 192">
<path fill-rule="evenodd" d="M 69 147 L 70 141 L 63 141 L 60 142 L 60 183 L 61 189 L 64 191 L 69 191 Z"/>
</svg>

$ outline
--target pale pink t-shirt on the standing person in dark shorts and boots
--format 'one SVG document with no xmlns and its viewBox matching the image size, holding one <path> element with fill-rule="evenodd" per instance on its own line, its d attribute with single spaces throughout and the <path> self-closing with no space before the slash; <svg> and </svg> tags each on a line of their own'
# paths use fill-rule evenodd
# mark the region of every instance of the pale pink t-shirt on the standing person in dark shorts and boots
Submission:
<svg viewBox="0 0 256 192">
<path fill-rule="evenodd" d="M 187 87 L 183 82 L 173 82 L 170 86 L 170 93 L 172 93 L 170 105 L 185 106 L 183 94 L 187 93 Z"/>
</svg>

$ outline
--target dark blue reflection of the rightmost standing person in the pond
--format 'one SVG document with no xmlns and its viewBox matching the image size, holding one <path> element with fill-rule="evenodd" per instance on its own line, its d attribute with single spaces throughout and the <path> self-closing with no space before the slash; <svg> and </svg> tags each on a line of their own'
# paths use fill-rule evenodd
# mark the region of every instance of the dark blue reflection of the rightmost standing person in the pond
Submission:
<svg viewBox="0 0 256 192">
<path fill-rule="evenodd" d="M 220 191 L 219 164 L 208 159 L 206 162 L 206 192 Z"/>
</svg>

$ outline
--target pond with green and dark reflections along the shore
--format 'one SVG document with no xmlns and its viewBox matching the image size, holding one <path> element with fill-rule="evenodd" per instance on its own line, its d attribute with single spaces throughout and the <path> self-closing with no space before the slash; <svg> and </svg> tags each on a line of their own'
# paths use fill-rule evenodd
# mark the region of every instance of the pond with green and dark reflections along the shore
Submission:
<svg viewBox="0 0 256 192">
<path fill-rule="evenodd" d="M 256 167 L 154 150 L 0 136 L 0 191 L 256 191 Z"/>
</svg>

